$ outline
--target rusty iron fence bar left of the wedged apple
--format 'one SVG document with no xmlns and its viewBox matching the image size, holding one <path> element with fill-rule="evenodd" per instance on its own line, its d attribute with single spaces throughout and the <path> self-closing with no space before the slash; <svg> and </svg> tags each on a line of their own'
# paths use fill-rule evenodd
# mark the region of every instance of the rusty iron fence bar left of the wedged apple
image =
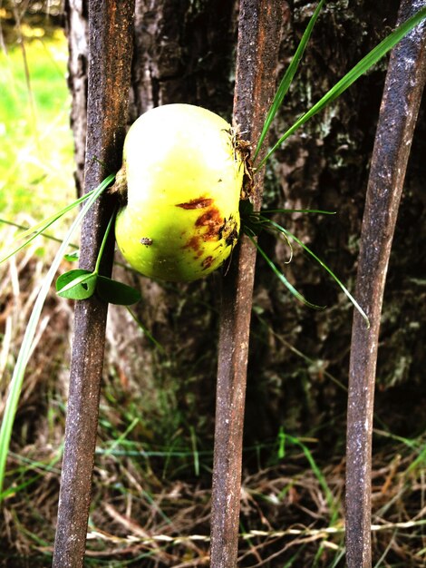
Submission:
<svg viewBox="0 0 426 568">
<path fill-rule="evenodd" d="M 134 0 L 89 3 L 89 91 L 84 191 L 121 166 L 131 81 Z M 94 267 L 111 198 L 102 197 L 82 227 L 81 266 Z M 111 274 L 113 240 L 102 273 Z M 53 553 L 54 568 L 83 565 L 92 489 L 107 305 L 79 301 L 75 308 L 63 471 Z"/>
</svg>

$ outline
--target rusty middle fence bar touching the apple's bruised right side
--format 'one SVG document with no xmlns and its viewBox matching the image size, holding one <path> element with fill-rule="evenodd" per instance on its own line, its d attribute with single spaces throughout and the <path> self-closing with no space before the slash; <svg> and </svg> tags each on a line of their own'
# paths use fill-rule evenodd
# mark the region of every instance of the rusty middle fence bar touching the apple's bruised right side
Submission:
<svg viewBox="0 0 426 568">
<path fill-rule="evenodd" d="M 239 10 L 234 122 L 241 137 L 256 142 L 276 87 L 276 63 L 286 4 L 242 0 Z M 265 154 L 263 154 L 265 155 Z M 256 175 L 253 201 L 260 207 L 263 175 Z M 222 282 L 213 465 L 212 568 L 237 565 L 241 455 L 247 352 L 256 249 L 242 237 Z"/>
</svg>

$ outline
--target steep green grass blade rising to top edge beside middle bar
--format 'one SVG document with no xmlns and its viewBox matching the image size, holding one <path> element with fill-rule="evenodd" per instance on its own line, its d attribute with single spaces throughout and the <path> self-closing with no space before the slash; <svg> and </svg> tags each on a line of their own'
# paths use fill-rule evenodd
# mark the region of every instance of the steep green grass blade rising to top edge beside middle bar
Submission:
<svg viewBox="0 0 426 568">
<path fill-rule="evenodd" d="M 276 95 L 274 97 L 274 100 L 269 108 L 269 111 L 266 115 L 266 120 L 265 123 L 263 125 L 263 129 L 262 132 L 260 134 L 260 138 L 257 142 L 257 148 L 256 148 L 256 152 L 253 156 L 253 161 L 256 161 L 257 158 L 257 154 L 260 152 L 260 149 L 262 148 L 262 144 L 266 138 L 266 134 L 269 131 L 269 128 L 271 126 L 271 122 L 274 120 L 276 113 L 278 111 L 278 109 L 280 108 L 281 104 L 284 101 L 284 97 L 286 96 L 286 93 L 293 81 L 293 77 L 295 76 L 295 72 L 297 71 L 297 68 L 302 60 L 303 54 L 305 53 L 305 47 L 307 45 L 307 43 L 309 42 L 309 39 L 311 37 L 312 34 L 312 30 L 314 29 L 314 25 L 316 22 L 316 19 L 321 11 L 321 8 L 324 5 L 324 0 L 321 0 L 321 2 L 317 5 L 316 10 L 314 15 L 311 17 L 311 19 L 309 20 L 309 24 L 307 25 L 306 29 L 305 29 L 305 33 L 302 36 L 302 39 L 300 40 L 300 44 L 297 46 L 297 49 L 295 51 L 295 55 L 293 56 L 293 59 L 291 60 L 291 63 L 288 65 L 287 69 L 286 69 L 286 73 L 284 74 L 284 77 L 281 79 L 281 83 L 279 83 L 279 86 L 276 90 Z"/>
</svg>

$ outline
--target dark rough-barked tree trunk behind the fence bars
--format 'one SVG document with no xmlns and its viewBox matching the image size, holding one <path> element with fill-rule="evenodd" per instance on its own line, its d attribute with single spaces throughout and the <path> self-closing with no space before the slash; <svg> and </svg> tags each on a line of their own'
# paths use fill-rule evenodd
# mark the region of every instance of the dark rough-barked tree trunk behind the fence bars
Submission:
<svg viewBox="0 0 426 568">
<path fill-rule="evenodd" d="M 374 5 L 366 0 L 327 3 L 273 136 L 284 132 L 391 31 L 397 9 L 398 2 L 393 0 Z M 313 5 L 305 0 L 286 4 L 281 73 L 312 10 Z M 67 11 L 73 130 L 77 162 L 81 163 L 85 43 L 80 35 L 85 25 L 85 3 L 69 0 Z M 197 103 L 229 120 L 236 32 L 237 5 L 233 2 L 138 0 L 130 120 L 151 106 L 171 102 Z M 264 202 L 268 207 L 337 211 L 334 217 L 292 214 L 281 217 L 281 221 L 315 250 L 349 289 L 353 289 L 386 62 L 384 59 L 332 107 L 308 122 L 276 152 L 266 171 Z M 376 415 L 385 424 L 392 416 L 392 431 L 401 436 L 410 436 L 425 426 L 421 377 L 426 362 L 419 333 L 426 316 L 424 131 L 423 106 L 393 242 L 377 373 Z M 78 179 L 80 176 L 78 171 Z M 347 383 L 352 307 L 324 270 L 301 252 L 295 251 L 294 260 L 286 265 L 286 242 L 268 235 L 260 239 L 296 288 L 328 308 L 317 313 L 295 303 L 266 264 L 258 260 L 246 442 L 275 438 L 279 426 L 284 426 L 287 431 L 304 435 L 315 433 L 320 449 L 332 452 L 344 430 L 346 393 L 336 381 Z M 161 427 L 173 432 L 176 424 L 171 424 L 169 416 L 185 416 L 185 423 L 197 427 L 198 436 L 208 440 L 213 434 L 218 277 L 212 275 L 187 286 L 160 285 L 127 272 L 123 278 L 139 283 L 144 300 L 138 315 L 168 352 L 168 364 L 163 364 L 147 340 L 140 340 L 140 331 L 122 309 L 111 309 L 110 367 L 106 368 L 115 369 L 129 389 L 129 397 L 135 399 L 141 388 L 145 393 L 155 393 L 168 387 L 167 416 L 158 395 L 145 398 L 144 404 L 156 409 L 153 419 L 157 416 Z M 324 428 L 325 424 L 329 427 Z"/>
</svg>

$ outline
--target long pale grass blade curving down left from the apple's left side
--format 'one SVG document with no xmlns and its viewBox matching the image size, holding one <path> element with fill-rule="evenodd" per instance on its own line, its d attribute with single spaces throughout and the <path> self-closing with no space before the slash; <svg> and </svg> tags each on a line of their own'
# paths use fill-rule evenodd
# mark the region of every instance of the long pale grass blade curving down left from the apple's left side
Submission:
<svg viewBox="0 0 426 568">
<path fill-rule="evenodd" d="M 19 403 L 19 397 L 21 395 L 22 385 L 24 381 L 24 373 L 31 354 L 31 348 L 33 345 L 33 340 L 42 313 L 42 309 L 44 307 L 44 301 L 47 297 L 47 294 L 49 293 L 49 289 L 51 288 L 56 271 L 57 269 L 59 269 L 59 266 L 63 260 L 63 254 L 68 247 L 68 243 L 72 239 L 73 231 L 80 225 L 82 219 L 84 218 L 87 211 L 89 211 L 89 209 L 92 207 L 94 201 L 96 201 L 101 195 L 102 191 L 104 191 L 110 185 L 114 177 L 115 175 L 111 174 L 104 181 L 102 181 L 102 183 L 96 188 L 96 190 L 91 193 L 90 198 L 84 203 L 82 211 L 80 211 L 75 220 L 73 220 L 70 229 L 63 239 L 63 243 L 59 247 L 59 250 L 57 251 L 56 256 L 53 259 L 50 269 L 44 277 L 37 299 L 35 300 L 33 311 L 28 321 L 28 325 L 25 329 L 23 343 L 16 360 L 14 374 L 11 379 L 9 393 L 5 404 L 5 414 L 3 416 L 2 426 L 0 428 L 0 498 L 2 494 L 3 483 L 5 480 L 6 458 L 9 451 L 10 438 L 12 436 L 12 428 L 14 425 L 16 409 Z"/>
</svg>

